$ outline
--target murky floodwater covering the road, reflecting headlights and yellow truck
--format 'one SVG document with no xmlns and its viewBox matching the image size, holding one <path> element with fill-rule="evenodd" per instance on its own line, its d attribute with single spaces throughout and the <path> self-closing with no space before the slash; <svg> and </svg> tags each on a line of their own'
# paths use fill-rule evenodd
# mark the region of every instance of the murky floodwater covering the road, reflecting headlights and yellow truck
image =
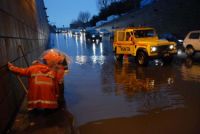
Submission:
<svg viewBox="0 0 200 134">
<path fill-rule="evenodd" d="M 112 43 L 52 34 L 72 59 L 65 99 L 80 134 L 199 134 L 200 56 L 171 65 L 116 62 Z"/>
</svg>

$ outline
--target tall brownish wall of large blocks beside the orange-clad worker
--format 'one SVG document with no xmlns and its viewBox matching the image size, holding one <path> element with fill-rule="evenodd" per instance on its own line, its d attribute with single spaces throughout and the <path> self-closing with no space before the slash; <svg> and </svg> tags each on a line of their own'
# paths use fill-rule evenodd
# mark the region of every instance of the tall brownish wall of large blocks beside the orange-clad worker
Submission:
<svg viewBox="0 0 200 134">
<path fill-rule="evenodd" d="M 27 66 L 19 45 L 29 64 L 45 50 L 49 36 L 46 16 L 43 0 L 0 1 L 0 133 L 11 125 L 25 95 L 7 62 Z"/>
</svg>

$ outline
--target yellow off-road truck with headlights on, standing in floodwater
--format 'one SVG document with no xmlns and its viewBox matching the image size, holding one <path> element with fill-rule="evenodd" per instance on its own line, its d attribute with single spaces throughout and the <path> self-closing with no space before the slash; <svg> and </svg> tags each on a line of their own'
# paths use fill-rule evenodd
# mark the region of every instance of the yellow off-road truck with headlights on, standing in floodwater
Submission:
<svg viewBox="0 0 200 134">
<path fill-rule="evenodd" d="M 117 60 L 134 56 L 139 65 L 147 65 L 150 59 L 161 58 L 170 63 L 177 53 L 176 43 L 159 40 L 151 27 L 130 27 L 114 32 L 113 51 Z"/>
</svg>

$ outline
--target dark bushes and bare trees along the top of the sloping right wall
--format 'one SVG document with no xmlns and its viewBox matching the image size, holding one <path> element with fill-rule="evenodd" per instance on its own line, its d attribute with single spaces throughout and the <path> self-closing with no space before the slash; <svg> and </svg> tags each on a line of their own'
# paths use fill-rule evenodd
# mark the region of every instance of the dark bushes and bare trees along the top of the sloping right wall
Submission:
<svg viewBox="0 0 200 134">
<path fill-rule="evenodd" d="M 140 7 L 141 0 L 97 0 L 98 15 L 91 16 L 89 12 L 80 12 L 77 20 L 70 24 L 71 28 L 95 26 L 98 21 L 106 20 L 112 15 L 122 15 Z"/>
</svg>

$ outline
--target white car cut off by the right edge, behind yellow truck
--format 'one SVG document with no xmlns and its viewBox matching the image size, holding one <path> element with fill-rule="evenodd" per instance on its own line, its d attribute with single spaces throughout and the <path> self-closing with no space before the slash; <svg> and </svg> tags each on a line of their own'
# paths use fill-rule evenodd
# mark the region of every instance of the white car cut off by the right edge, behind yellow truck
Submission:
<svg viewBox="0 0 200 134">
<path fill-rule="evenodd" d="M 189 32 L 183 41 L 183 46 L 188 56 L 200 52 L 200 30 Z"/>
</svg>

